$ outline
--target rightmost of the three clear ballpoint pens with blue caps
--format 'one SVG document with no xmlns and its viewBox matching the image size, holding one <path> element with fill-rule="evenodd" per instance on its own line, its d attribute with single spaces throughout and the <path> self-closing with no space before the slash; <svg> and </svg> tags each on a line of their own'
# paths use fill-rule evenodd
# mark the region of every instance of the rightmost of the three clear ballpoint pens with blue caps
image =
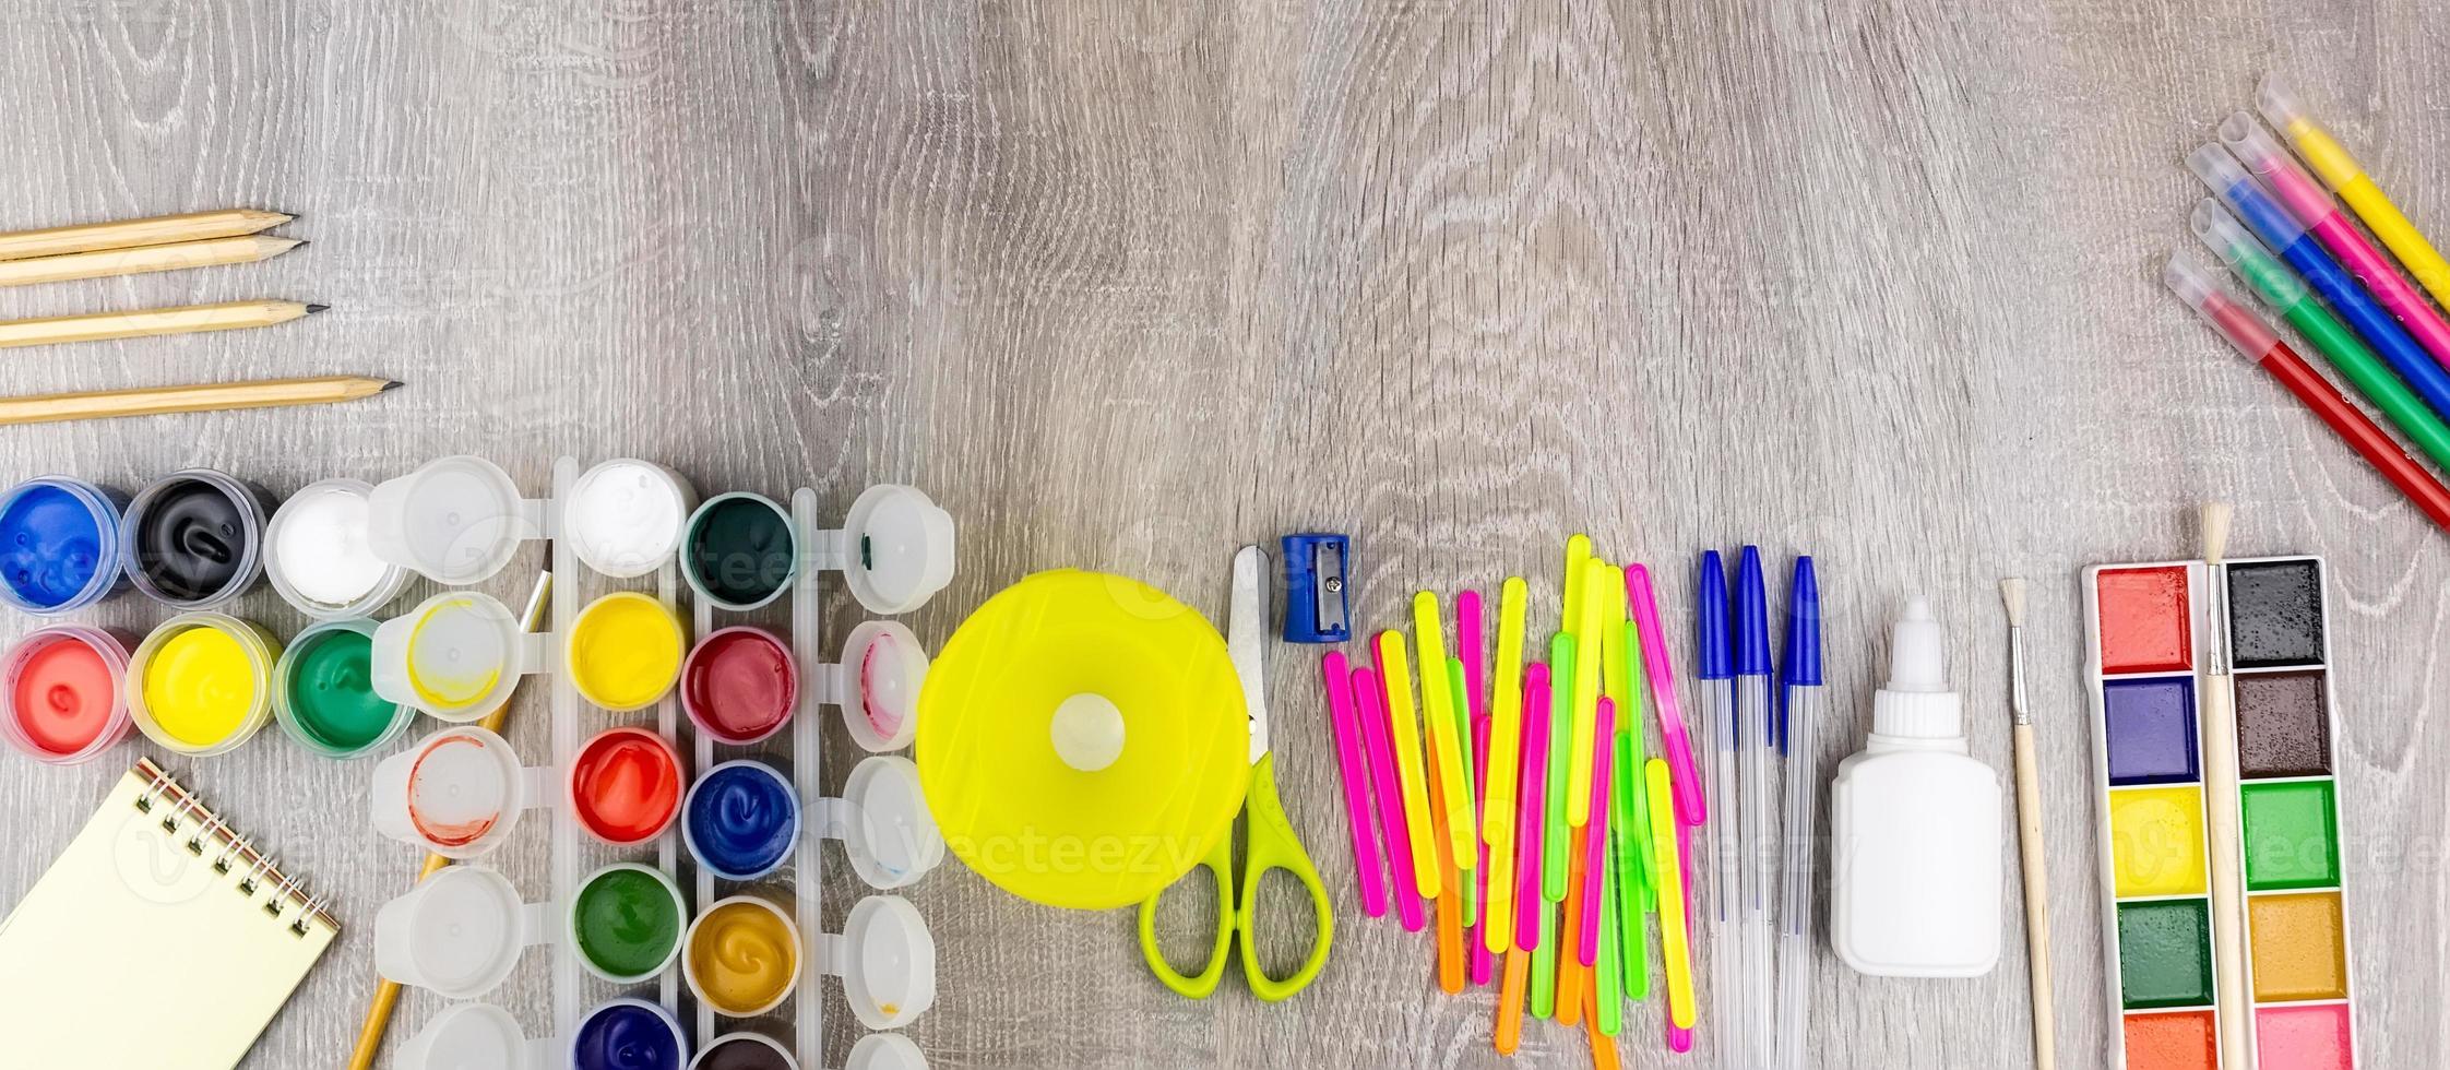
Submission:
<svg viewBox="0 0 2450 1070">
<path fill-rule="evenodd" d="M 1786 676 L 1781 744 L 1786 749 L 1786 872 L 1779 904 L 1779 1068 L 1803 1070 L 1803 1028 L 1813 1019 L 1813 810 L 1820 806 L 1820 578 L 1796 558 L 1786 595 Z"/>
</svg>

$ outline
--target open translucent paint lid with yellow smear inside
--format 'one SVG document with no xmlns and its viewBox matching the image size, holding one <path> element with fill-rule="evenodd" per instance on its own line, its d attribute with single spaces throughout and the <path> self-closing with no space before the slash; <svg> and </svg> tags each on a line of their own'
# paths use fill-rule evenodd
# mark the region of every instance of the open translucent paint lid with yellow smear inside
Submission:
<svg viewBox="0 0 2450 1070">
<path fill-rule="evenodd" d="M 446 590 L 375 629 L 375 693 L 441 720 L 470 722 L 544 668 L 546 637 L 519 632 L 500 597 Z"/>
</svg>

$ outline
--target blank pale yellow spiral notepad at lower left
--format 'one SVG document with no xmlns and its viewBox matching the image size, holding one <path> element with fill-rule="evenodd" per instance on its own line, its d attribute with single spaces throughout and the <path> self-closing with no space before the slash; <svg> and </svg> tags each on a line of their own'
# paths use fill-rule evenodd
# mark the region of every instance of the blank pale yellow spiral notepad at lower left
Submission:
<svg viewBox="0 0 2450 1070">
<path fill-rule="evenodd" d="M 0 921 L 0 1036 L 27 1068 L 228 1070 L 341 923 L 147 759 Z"/>
</svg>

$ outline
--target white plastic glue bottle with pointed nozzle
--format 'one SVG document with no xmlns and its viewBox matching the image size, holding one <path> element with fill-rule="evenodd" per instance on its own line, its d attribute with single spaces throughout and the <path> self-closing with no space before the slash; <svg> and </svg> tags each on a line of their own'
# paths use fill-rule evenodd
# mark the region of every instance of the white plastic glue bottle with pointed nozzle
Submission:
<svg viewBox="0 0 2450 1070">
<path fill-rule="evenodd" d="M 1896 622 L 1872 739 L 1830 788 L 1830 943 L 1874 977 L 1980 977 L 1999 962 L 1999 774 L 1965 752 L 1931 602 Z"/>
</svg>

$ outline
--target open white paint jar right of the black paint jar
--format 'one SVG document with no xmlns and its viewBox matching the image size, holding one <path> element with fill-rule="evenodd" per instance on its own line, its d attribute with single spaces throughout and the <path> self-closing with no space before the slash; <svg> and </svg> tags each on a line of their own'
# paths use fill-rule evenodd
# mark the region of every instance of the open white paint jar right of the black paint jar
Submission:
<svg viewBox="0 0 2450 1070">
<path fill-rule="evenodd" d="M 409 571 L 372 546 L 365 480 L 316 480 L 289 495 L 265 529 L 265 575 L 282 600 L 314 619 L 370 617 L 399 595 Z"/>
</svg>

